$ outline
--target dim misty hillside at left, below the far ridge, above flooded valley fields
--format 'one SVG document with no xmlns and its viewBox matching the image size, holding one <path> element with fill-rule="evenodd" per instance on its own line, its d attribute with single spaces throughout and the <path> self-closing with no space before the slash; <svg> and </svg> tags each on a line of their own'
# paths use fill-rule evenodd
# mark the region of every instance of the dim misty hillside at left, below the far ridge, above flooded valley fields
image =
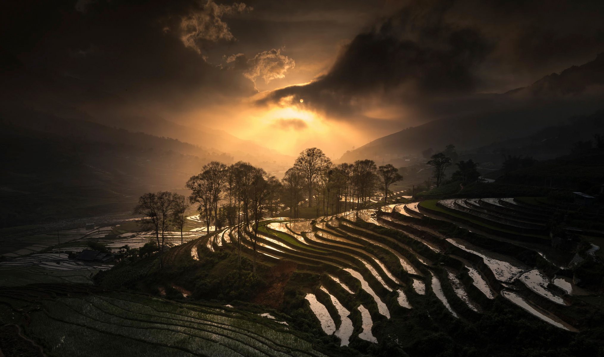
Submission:
<svg viewBox="0 0 604 357">
<path fill-rule="evenodd" d="M 211 161 L 233 162 L 181 141 L 96 123 L 4 114 L 0 226 L 128 213 L 149 190 L 182 190 Z"/>
</svg>

